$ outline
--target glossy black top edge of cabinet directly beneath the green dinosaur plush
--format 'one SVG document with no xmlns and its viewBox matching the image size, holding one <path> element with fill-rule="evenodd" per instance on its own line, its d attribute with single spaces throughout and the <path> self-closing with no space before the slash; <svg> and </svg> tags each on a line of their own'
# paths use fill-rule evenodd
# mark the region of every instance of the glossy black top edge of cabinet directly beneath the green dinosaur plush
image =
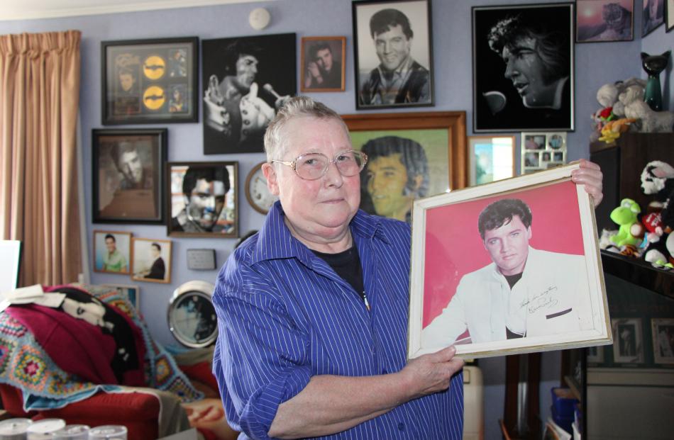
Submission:
<svg viewBox="0 0 674 440">
<path fill-rule="evenodd" d="M 651 266 L 647 261 L 602 251 L 604 272 L 655 293 L 674 298 L 674 271 Z"/>
</svg>

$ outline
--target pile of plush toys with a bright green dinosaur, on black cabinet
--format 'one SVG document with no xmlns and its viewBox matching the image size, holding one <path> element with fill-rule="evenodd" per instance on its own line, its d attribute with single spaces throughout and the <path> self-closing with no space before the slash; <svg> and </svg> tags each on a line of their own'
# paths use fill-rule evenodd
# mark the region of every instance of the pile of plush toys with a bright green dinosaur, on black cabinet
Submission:
<svg viewBox="0 0 674 440">
<path fill-rule="evenodd" d="M 638 203 L 624 198 L 611 213 L 619 229 L 602 231 L 600 247 L 673 269 L 674 168 L 657 160 L 649 162 L 641 173 L 641 189 L 653 201 L 642 212 Z"/>
</svg>

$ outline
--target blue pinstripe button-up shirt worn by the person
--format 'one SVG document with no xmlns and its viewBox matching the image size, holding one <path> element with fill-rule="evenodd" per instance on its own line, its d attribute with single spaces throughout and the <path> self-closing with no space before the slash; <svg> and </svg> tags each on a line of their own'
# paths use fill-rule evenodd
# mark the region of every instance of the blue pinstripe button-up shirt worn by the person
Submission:
<svg viewBox="0 0 674 440">
<path fill-rule="evenodd" d="M 280 203 L 221 269 L 213 297 L 213 369 L 240 439 L 268 439 L 278 406 L 314 375 L 374 376 L 407 363 L 409 226 L 358 211 L 350 224 L 371 310 L 325 261 L 290 235 Z M 463 376 L 323 439 L 460 439 Z"/>
</svg>

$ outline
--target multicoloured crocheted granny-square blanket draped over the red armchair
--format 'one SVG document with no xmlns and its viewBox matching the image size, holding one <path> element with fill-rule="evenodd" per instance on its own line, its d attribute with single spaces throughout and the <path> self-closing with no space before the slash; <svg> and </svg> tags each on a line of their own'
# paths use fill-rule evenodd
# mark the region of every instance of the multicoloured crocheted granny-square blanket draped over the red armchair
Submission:
<svg viewBox="0 0 674 440">
<path fill-rule="evenodd" d="M 114 288 L 77 284 L 72 286 L 86 290 L 104 303 L 126 313 L 140 328 L 145 341 L 145 386 L 174 393 L 182 402 L 192 402 L 204 397 L 189 383 L 187 376 L 180 371 L 164 347 L 150 337 L 147 325 L 126 296 Z M 0 383 L 21 389 L 23 409 L 26 411 L 65 407 L 72 402 L 84 400 L 99 390 L 121 390 L 117 385 L 92 383 L 62 370 L 38 344 L 33 334 L 5 312 L 0 313 Z"/>
</svg>

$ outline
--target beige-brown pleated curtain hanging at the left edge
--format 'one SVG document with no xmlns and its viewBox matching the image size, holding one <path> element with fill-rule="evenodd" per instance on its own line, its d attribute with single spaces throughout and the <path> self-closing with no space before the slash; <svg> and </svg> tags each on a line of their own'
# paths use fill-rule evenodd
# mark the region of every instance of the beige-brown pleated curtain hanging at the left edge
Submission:
<svg viewBox="0 0 674 440">
<path fill-rule="evenodd" d="M 0 35 L 0 239 L 21 286 L 77 281 L 79 30 Z"/>
</svg>

